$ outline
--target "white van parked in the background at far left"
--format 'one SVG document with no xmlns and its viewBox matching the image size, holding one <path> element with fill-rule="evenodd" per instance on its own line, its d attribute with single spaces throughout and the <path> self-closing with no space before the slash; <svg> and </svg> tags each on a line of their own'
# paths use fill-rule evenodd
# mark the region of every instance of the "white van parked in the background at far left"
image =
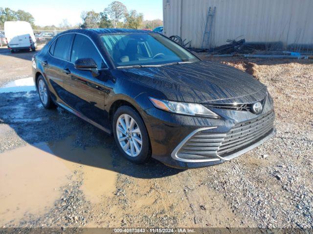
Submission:
<svg viewBox="0 0 313 234">
<path fill-rule="evenodd" d="M 36 38 L 30 23 L 25 21 L 5 21 L 4 35 L 7 39 L 7 46 L 11 52 L 20 49 L 31 49 L 35 51 L 37 48 Z"/>
</svg>

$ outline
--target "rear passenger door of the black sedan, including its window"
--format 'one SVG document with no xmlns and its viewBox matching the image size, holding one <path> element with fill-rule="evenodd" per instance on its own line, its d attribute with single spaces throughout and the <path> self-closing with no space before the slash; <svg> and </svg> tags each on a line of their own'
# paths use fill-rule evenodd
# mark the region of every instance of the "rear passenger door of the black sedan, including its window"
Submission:
<svg viewBox="0 0 313 234">
<path fill-rule="evenodd" d="M 65 101 L 67 95 L 64 90 L 63 79 L 65 75 L 64 67 L 69 60 L 70 46 L 74 34 L 59 36 L 49 47 L 49 53 L 43 58 L 43 67 L 48 82 L 55 90 L 57 96 Z M 60 101 L 60 100 L 57 100 Z"/>
</svg>

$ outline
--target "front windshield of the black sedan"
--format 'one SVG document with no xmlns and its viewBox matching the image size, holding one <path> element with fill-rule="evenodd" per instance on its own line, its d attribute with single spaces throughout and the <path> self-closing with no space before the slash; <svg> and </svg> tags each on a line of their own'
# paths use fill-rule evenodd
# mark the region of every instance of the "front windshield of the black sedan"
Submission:
<svg viewBox="0 0 313 234">
<path fill-rule="evenodd" d="M 104 34 L 101 40 L 117 68 L 199 61 L 188 50 L 156 33 Z"/>
</svg>

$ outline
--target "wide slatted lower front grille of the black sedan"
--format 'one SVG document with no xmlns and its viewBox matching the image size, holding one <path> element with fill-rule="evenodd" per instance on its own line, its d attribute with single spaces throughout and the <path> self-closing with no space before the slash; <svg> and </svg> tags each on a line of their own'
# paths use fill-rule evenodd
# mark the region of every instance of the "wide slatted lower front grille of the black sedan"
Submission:
<svg viewBox="0 0 313 234">
<path fill-rule="evenodd" d="M 204 130 L 193 135 L 178 151 L 184 159 L 228 156 L 268 136 L 273 131 L 274 112 L 246 122 L 237 123 L 228 133 Z"/>
</svg>

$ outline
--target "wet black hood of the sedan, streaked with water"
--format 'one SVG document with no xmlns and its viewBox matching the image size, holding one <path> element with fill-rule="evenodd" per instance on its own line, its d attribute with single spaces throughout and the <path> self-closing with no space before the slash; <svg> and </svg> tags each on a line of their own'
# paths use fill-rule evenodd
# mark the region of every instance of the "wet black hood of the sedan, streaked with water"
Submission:
<svg viewBox="0 0 313 234">
<path fill-rule="evenodd" d="M 160 91 L 172 101 L 250 103 L 266 96 L 266 86 L 234 67 L 201 61 L 124 69 L 134 82 Z"/>
</svg>

